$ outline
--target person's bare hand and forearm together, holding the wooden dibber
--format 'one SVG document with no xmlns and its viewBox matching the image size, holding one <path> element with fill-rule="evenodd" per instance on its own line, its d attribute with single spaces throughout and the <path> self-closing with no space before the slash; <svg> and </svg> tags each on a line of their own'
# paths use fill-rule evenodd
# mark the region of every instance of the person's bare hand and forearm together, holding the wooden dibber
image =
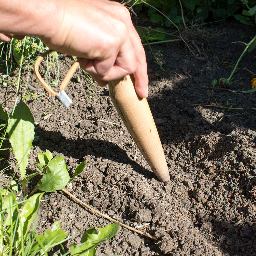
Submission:
<svg viewBox="0 0 256 256">
<path fill-rule="evenodd" d="M 83 58 L 81 67 L 105 86 L 133 74 L 148 96 L 147 64 L 129 11 L 106 0 L 0 0 L 0 40 L 38 36 L 53 50 Z"/>
</svg>

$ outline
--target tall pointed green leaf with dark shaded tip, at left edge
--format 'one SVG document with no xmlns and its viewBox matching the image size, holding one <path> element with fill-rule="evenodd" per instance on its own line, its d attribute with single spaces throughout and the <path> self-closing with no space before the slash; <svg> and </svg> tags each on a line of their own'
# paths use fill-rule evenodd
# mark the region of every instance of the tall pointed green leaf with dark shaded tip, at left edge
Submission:
<svg viewBox="0 0 256 256">
<path fill-rule="evenodd" d="M 13 115 L 10 114 L 7 127 L 9 142 L 11 143 L 12 151 L 18 160 L 21 178 L 24 178 L 26 175 L 29 151 L 32 148 L 32 142 L 35 135 L 34 130 L 33 116 L 28 106 L 21 101 L 17 104 Z"/>
</svg>

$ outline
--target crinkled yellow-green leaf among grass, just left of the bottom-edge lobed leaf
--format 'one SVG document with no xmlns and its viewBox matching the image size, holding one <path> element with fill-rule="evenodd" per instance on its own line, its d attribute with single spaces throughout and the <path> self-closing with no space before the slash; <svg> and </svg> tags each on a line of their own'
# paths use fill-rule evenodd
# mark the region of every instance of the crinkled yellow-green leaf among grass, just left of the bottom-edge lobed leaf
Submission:
<svg viewBox="0 0 256 256">
<path fill-rule="evenodd" d="M 67 233 L 60 228 L 60 222 L 58 220 L 54 221 L 54 224 L 51 228 L 51 230 L 45 230 L 45 235 L 38 234 L 37 240 L 34 243 L 30 253 L 36 251 L 36 249 L 39 246 L 38 240 L 41 242 L 41 244 L 44 246 L 46 251 L 49 251 L 53 244 L 58 243 L 62 239 L 64 239 L 67 236 Z"/>
</svg>

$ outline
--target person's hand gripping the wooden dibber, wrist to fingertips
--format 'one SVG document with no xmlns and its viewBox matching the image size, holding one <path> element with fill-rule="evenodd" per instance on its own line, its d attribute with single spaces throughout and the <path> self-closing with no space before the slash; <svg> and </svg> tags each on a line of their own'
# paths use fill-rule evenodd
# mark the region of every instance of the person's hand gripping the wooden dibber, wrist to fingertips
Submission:
<svg viewBox="0 0 256 256">
<path fill-rule="evenodd" d="M 129 11 L 105 0 L 62 1 L 59 8 L 53 30 L 41 37 L 46 45 L 82 58 L 81 68 L 100 86 L 133 74 L 136 92 L 147 97 L 145 51 Z"/>
</svg>

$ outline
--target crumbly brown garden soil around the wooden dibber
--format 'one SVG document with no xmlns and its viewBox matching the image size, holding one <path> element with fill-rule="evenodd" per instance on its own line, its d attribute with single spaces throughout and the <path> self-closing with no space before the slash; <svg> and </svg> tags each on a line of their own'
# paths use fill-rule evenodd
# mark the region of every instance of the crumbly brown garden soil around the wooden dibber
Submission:
<svg viewBox="0 0 256 256">
<path fill-rule="evenodd" d="M 231 42 L 241 41 L 241 35 L 249 42 L 254 36 L 252 27 L 233 19 L 213 24 L 212 29 L 225 32 L 209 39 L 222 63 L 235 64 L 245 47 Z M 200 60 L 181 42 L 152 45 L 154 52 L 163 51 L 159 61 L 166 72 L 145 47 L 148 67 L 162 73 L 150 79 L 148 103 L 163 144 L 170 182 L 159 182 L 150 170 L 121 126 L 108 89 L 92 86 L 81 70 L 66 89 L 73 101 L 70 108 L 48 94 L 39 100 L 26 100 L 38 123 L 33 153 L 48 149 L 54 156 L 63 155 L 70 175 L 81 161 L 87 161 L 86 170 L 72 182 L 70 193 L 126 225 L 149 223 L 140 230 L 159 239 L 155 242 L 120 227 L 113 239 L 98 246 L 96 255 L 256 255 L 255 111 L 193 105 L 226 106 L 229 100 L 234 108 L 250 109 L 256 107 L 255 93 L 239 95 L 219 84 L 214 90 L 206 88 L 213 79 L 228 78 L 232 68 L 220 65 L 210 46 L 204 46 L 205 50 L 208 46 L 208 57 Z M 72 63 L 72 58 L 60 57 L 61 79 Z M 229 89 L 251 89 L 254 76 L 244 68 L 255 72 L 255 49 L 242 58 Z M 29 89 L 42 93 L 32 70 L 29 75 Z M 26 79 L 24 68 L 23 86 Z M 13 82 L 2 87 L 1 102 L 14 91 Z M 3 108 L 10 113 L 13 105 L 9 100 Z M 44 120 L 44 112 L 51 106 L 55 106 L 49 112 L 52 115 Z M 5 165 L 14 162 L 13 153 L 1 153 L 8 159 Z M 28 174 L 36 171 L 33 162 L 29 163 Z M 28 190 L 35 183 L 30 183 Z M 62 191 L 46 193 L 42 199 L 46 201 L 38 210 L 37 232 L 49 229 L 54 220 L 60 220 L 69 235 L 110 223 Z M 79 243 L 82 231 L 64 244 L 65 248 L 71 242 Z"/>
</svg>

